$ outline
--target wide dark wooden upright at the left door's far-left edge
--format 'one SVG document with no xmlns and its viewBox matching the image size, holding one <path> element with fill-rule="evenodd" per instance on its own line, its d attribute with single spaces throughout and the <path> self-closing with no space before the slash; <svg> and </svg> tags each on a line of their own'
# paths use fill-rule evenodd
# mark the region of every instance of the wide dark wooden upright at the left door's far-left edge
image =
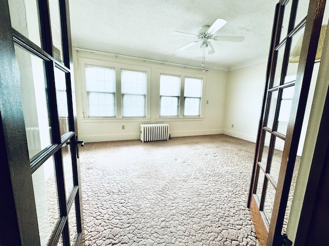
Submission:
<svg viewBox="0 0 329 246">
<path fill-rule="evenodd" d="M 0 244 L 40 245 L 8 2 L 0 9 Z"/>
</svg>

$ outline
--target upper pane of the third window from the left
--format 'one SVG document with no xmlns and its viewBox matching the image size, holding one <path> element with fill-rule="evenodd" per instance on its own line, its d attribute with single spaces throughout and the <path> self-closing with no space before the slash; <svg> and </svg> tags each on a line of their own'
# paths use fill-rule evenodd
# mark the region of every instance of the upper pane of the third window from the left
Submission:
<svg viewBox="0 0 329 246">
<path fill-rule="evenodd" d="M 160 96 L 179 96 L 180 77 L 173 75 L 160 75 Z"/>
</svg>

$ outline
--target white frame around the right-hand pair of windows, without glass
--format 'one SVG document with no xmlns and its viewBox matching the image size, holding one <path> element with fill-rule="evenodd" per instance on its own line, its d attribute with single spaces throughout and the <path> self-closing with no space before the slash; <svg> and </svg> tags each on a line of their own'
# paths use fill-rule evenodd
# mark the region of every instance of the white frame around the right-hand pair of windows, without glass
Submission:
<svg viewBox="0 0 329 246">
<path fill-rule="evenodd" d="M 180 76 L 180 95 L 179 95 L 179 107 L 178 107 L 178 116 L 160 116 L 160 75 L 173 75 Z M 202 97 L 200 99 L 200 115 L 199 116 L 184 116 L 184 88 L 185 88 L 185 78 L 200 78 L 202 79 Z M 198 74 L 191 72 L 180 72 L 180 71 L 172 71 L 165 69 L 157 70 L 157 82 L 158 82 L 158 90 L 157 90 L 157 117 L 156 121 L 180 121 L 180 120 L 202 120 L 204 118 L 204 101 L 205 101 L 205 91 L 206 91 L 206 74 Z"/>
</svg>

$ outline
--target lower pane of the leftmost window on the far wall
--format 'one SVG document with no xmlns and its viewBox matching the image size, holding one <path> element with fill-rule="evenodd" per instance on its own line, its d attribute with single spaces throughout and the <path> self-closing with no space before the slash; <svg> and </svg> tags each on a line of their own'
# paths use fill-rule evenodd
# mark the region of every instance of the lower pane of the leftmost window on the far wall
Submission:
<svg viewBox="0 0 329 246">
<path fill-rule="evenodd" d="M 115 116 L 115 101 L 112 93 L 88 93 L 89 116 Z"/>
</svg>

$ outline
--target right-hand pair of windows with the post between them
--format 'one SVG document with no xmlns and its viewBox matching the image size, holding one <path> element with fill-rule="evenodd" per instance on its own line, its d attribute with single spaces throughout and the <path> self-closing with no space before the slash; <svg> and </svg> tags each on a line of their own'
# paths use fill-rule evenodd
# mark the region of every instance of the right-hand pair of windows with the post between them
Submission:
<svg viewBox="0 0 329 246">
<path fill-rule="evenodd" d="M 205 76 L 159 73 L 160 117 L 200 117 Z M 192 74 L 191 74 L 192 75 Z"/>
</svg>

